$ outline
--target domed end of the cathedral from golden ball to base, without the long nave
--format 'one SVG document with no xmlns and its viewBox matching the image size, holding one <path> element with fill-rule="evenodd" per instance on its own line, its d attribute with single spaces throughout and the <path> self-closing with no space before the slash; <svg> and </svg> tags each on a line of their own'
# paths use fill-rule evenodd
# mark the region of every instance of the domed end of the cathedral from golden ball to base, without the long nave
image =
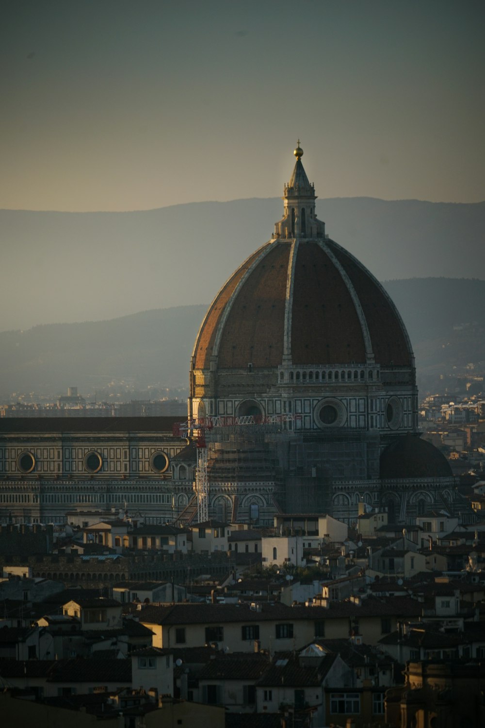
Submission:
<svg viewBox="0 0 485 728">
<path fill-rule="evenodd" d="M 210 513 L 268 522 L 276 510 L 319 510 L 350 521 L 365 502 L 404 521 L 451 507 L 449 464 L 417 430 L 404 323 L 326 234 L 302 154 L 298 145 L 283 218 L 217 293 L 193 349 L 189 417 L 225 423 L 209 438 Z M 265 424 L 228 426 L 241 416 Z"/>
</svg>

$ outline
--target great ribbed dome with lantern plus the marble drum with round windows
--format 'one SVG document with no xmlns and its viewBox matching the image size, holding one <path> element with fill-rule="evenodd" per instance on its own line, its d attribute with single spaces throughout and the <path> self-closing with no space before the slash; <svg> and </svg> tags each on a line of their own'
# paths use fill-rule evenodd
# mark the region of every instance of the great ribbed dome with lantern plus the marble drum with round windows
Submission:
<svg viewBox="0 0 485 728">
<path fill-rule="evenodd" d="M 281 414 L 303 430 L 414 431 L 406 328 L 380 282 L 326 234 L 297 152 L 283 218 L 204 317 L 189 417 Z"/>
</svg>

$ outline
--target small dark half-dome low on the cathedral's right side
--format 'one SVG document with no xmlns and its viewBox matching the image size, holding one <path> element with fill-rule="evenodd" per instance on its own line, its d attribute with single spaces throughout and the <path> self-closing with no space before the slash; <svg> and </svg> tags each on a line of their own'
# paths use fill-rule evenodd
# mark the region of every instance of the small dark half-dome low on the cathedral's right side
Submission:
<svg viewBox="0 0 485 728">
<path fill-rule="evenodd" d="M 446 457 L 434 445 L 408 433 L 397 438 L 380 456 L 380 478 L 451 478 Z"/>
</svg>

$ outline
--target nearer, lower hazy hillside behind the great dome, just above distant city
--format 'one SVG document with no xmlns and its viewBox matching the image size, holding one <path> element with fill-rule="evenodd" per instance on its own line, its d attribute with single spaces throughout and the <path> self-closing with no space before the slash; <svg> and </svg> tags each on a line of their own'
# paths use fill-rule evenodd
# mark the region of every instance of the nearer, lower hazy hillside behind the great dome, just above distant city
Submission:
<svg viewBox="0 0 485 728">
<path fill-rule="evenodd" d="M 485 362 L 485 281 L 445 278 L 384 283 L 406 323 L 418 376 Z M 0 394 L 92 392 L 111 379 L 186 387 L 193 341 L 207 305 L 155 309 L 108 321 L 0 333 Z"/>
</svg>

